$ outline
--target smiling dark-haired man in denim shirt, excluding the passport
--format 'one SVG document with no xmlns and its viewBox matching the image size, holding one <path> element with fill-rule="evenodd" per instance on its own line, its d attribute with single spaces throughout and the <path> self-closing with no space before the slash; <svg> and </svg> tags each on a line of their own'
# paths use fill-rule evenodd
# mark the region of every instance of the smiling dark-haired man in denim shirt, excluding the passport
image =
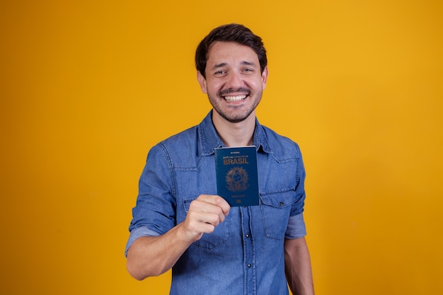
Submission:
<svg viewBox="0 0 443 295">
<path fill-rule="evenodd" d="M 171 294 L 313 294 L 299 146 L 258 123 L 263 42 L 222 25 L 197 47 L 197 80 L 213 109 L 149 151 L 127 243 L 136 279 L 172 268 Z M 214 149 L 256 146 L 260 204 L 217 196 Z"/>
</svg>

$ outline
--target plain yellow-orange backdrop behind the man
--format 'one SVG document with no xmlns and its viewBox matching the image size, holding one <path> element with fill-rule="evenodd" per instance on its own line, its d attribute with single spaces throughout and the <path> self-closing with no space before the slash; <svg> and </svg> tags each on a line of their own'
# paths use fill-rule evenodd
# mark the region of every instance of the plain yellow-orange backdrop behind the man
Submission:
<svg viewBox="0 0 443 295">
<path fill-rule="evenodd" d="M 146 153 L 209 111 L 197 42 L 263 37 L 316 294 L 442 294 L 441 1 L 1 1 L 1 294 L 168 294 L 123 251 Z M 223 294 L 224 290 L 221 290 Z"/>
</svg>

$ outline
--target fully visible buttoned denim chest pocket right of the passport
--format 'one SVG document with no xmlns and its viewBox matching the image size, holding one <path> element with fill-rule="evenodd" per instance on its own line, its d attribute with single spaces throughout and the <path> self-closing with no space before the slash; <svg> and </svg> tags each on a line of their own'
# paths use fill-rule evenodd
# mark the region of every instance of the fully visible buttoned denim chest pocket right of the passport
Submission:
<svg viewBox="0 0 443 295">
<path fill-rule="evenodd" d="M 291 206 L 296 201 L 294 188 L 261 192 L 261 212 L 266 238 L 283 240 L 286 233 Z"/>
</svg>

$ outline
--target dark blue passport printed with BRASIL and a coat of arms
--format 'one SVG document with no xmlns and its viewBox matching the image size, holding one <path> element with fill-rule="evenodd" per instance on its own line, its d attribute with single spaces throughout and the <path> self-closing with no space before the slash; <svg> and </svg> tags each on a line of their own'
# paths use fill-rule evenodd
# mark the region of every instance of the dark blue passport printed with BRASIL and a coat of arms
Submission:
<svg viewBox="0 0 443 295">
<path fill-rule="evenodd" d="M 255 146 L 215 149 L 217 195 L 231 207 L 258 205 L 257 151 Z"/>
</svg>

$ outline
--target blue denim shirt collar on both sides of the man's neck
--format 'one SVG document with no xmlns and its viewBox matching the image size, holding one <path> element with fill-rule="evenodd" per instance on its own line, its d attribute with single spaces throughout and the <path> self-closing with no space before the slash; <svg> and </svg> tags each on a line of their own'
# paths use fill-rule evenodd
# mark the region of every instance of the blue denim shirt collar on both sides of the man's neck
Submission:
<svg viewBox="0 0 443 295">
<path fill-rule="evenodd" d="M 212 122 L 212 110 L 206 115 L 205 119 L 202 120 L 200 125 L 198 125 L 198 134 L 200 149 L 203 156 L 214 154 L 214 149 L 224 147 L 223 141 L 217 134 L 214 123 Z M 257 151 L 264 151 L 268 154 L 272 152 L 267 141 L 265 129 L 262 125 L 260 125 L 256 117 L 253 145 L 257 146 Z"/>
</svg>

